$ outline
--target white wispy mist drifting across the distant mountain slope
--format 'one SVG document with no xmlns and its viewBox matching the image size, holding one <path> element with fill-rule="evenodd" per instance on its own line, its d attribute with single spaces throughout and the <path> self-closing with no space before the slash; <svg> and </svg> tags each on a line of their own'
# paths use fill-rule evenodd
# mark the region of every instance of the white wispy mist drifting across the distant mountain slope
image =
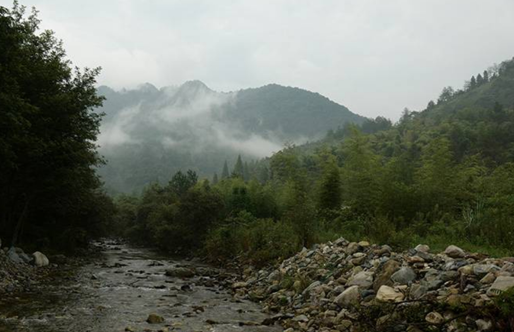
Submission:
<svg viewBox="0 0 514 332">
<path fill-rule="evenodd" d="M 271 133 L 264 138 L 244 132 L 223 116 L 226 105 L 236 98 L 237 92 L 214 92 L 199 82 L 163 88 L 155 100 L 123 108 L 104 122 L 98 143 L 103 149 L 116 149 L 157 142 L 165 149 L 196 154 L 222 148 L 255 158 L 280 150 L 281 140 Z"/>
</svg>

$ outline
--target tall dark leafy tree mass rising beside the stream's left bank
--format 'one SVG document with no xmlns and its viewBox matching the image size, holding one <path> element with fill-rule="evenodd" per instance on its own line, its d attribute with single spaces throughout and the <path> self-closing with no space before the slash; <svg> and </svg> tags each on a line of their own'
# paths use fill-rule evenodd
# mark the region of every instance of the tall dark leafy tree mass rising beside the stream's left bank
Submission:
<svg viewBox="0 0 514 332">
<path fill-rule="evenodd" d="M 24 13 L 0 7 L 0 235 L 73 245 L 110 209 L 94 171 L 99 68 L 72 69 L 35 10 Z"/>
</svg>

